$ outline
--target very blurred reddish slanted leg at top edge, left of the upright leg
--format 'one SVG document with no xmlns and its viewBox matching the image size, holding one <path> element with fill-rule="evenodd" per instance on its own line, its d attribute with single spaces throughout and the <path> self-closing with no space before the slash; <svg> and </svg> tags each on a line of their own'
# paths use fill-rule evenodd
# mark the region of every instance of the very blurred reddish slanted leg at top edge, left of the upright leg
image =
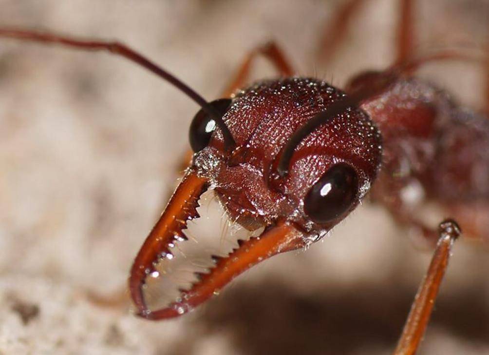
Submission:
<svg viewBox="0 0 489 355">
<path fill-rule="evenodd" d="M 365 0 L 349 0 L 333 16 L 331 25 L 327 25 L 319 43 L 318 56 L 325 63 L 331 60 L 336 49 L 345 39 L 353 16 Z"/>
</svg>

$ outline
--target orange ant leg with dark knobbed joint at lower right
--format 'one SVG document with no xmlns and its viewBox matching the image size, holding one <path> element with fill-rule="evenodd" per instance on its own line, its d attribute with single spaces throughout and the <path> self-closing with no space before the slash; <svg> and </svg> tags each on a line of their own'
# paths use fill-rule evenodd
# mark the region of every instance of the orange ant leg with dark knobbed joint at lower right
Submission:
<svg viewBox="0 0 489 355">
<path fill-rule="evenodd" d="M 402 330 L 398 346 L 393 353 L 394 355 L 413 355 L 416 353 L 428 325 L 431 311 L 448 265 L 453 242 L 460 236 L 461 231 L 457 222 L 452 219 L 446 219 L 440 223 L 438 234 L 440 237 L 437 247 L 433 253 L 426 276 L 414 298 L 414 303 L 411 306 L 411 311 Z"/>
</svg>

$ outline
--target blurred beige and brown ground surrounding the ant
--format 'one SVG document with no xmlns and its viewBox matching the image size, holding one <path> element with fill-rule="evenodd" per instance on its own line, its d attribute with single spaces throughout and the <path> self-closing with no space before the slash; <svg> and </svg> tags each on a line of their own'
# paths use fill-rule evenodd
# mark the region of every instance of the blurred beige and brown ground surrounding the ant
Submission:
<svg viewBox="0 0 489 355">
<path fill-rule="evenodd" d="M 212 100 L 244 55 L 272 39 L 298 74 L 339 87 L 385 68 L 396 0 L 366 0 L 342 46 L 318 59 L 344 3 L 0 0 L 0 25 L 120 40 Z M 416 5 L 421 53 L 487 45 L 489 1 Z M 259 60 L 253 78 L 274 74 Z M 430 64 L 420 76 L 482 108 L 481 68 Z M 307 252 L 258 265 L 181 319 L 131 314 L 128 270 L 176 185 L 197 110 L 109 54 L 0 40 L 0 353 L 392 352 L 430 253 L 368 204 Z M 225 233 L 219 217 L 202 220 Z M 420 354 L 489 354 L 488 256 L 457 242 Z"/>
</svg>

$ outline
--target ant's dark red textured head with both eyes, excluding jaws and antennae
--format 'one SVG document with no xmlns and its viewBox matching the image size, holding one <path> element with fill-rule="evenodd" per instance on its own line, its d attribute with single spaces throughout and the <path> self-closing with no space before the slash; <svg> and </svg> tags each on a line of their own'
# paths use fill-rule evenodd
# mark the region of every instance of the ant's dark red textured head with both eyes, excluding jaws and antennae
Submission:
<svg viewBox="0 0 489 355">
<path fill-rule="evenodd" d="M 194 165 L 232 220 L 254 230 L 287 219 L 315 241 L 355 209 L 381 160 L 378 129 L 363 111 L 348 110 L 318 127 L 297 146 L 289 173 L 276 173 L 290 136 L 342 97 L 324 81 L 289 78 L 257 83 L 232 102 L 214 101 L 237 144 L 231 153 L 219 129 L 210 133 L 212 119 L 196 116 L 190 137 L 201 150 Z"/>
</svg>

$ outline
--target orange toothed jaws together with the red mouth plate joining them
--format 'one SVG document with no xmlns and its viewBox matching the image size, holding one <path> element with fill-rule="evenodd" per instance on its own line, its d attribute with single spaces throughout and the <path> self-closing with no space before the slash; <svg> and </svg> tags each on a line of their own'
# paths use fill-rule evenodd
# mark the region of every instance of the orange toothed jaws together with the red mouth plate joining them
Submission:
<svg viewBox="0 0 489 355">
<path fill-rule="evenodd" d="M 307 247 L 331 228 L 311 225 L 300 212 L 298 202 L 267 185 L 261 169 L 249 163 L 228 166 L 226 158 L 218 153 L 207 147 L 194 156 L 193 166 L 134 261 L 129 284 L 141 317 L 151 320 L 178 317 L 217 294 L 245 270 L 276 254 Z M 170 269 L 173 265 L 178 267 L 172 249 L 180 249 L 179 243 L 187 239 L 183 233 L 187 221 L 200 217 L 198 202 L 207 188 L 215 190 L 231 221 L 251 231 L 265 229 L 258 237 L 238 240 L 238 247 L 225 257 L 207 254 L 207 261 L 210 265 L 212 259 L 212 265 L 201 266 L 204 272 L 195 273 L 197 281 L 179 289 L 178 296 L 166 299 L 163 308 L 150 309 L 145 299 L 146 279 L 156 274 L 157 278 L 171 281 Z M 199 241 L 199 236 L 195 239 Z M 205 248 L 202 250 L 205 252 Z M 160 263 L 161 260 L 165 262 Z M 161 269 L 163 264 L 165 269 Z M 162 281 L 154 282 L 167 284 Z M 165 293 L 171 293 L 167 288 Z"/>
</svg>

